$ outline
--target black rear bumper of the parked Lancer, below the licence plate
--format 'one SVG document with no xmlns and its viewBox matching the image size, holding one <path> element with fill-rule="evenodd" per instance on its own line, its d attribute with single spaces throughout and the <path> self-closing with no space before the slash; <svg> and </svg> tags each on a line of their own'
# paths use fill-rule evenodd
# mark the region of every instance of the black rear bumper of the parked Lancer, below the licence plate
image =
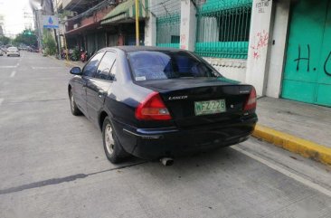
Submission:
<svg viewBox="0 0 331 218">
<path fill-rule="evenodd" d="M 192 128 L 132 128 L 114 122 L 119 142 L 131 155 L 143 159 L 184 156 L 227 147 L 250 137 L 258 118 Z"/>
</svg>

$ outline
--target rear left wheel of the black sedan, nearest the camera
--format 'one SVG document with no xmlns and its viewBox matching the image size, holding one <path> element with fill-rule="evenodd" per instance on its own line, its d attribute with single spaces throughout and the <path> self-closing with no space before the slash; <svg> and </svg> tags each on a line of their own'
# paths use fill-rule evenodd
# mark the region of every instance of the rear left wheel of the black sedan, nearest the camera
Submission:
<svg viewBox="0 0 331 218">
<path fill-rule="evenodd" d="M 118 164 L 128 153 L 118 142 L 118 137 L 115 134 L 114 128 L 109 117 L 105 118 L 102 125 L 103 148 L 109 161 L 113 164 Z"/>
</svg>

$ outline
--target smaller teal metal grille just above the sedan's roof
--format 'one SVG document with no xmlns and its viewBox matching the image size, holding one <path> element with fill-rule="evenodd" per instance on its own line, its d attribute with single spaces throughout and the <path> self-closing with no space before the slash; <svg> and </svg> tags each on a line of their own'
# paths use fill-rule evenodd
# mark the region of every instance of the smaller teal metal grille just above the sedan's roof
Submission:
<svg viewBox="0 0 331 218">
<path fill-rule="evenodd" d="M 156 45 L 179 48 L 180 14 L 166 14 L 156 18 Z"/>
</svg>

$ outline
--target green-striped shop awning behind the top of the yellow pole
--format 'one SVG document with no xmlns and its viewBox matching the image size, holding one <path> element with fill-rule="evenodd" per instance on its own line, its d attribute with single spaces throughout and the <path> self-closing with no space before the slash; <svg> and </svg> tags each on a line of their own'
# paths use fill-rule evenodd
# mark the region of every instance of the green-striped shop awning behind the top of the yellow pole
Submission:
<svg viewBox="0 0 331 218">
<path fill-rule="evenodd" d="M 133 22 L 136 18 L 136 1 L 128 0 L 121 3 L 102 18 L 101 24 L 118 24 Z M 147 17 L 148 0 L 139 1 L 139 19 Z"/>
</svg>

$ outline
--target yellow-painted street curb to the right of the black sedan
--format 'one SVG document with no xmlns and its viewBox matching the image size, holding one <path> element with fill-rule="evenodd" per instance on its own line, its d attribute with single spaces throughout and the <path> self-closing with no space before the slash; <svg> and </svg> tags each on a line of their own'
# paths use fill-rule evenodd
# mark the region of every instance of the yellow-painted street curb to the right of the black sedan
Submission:
<svg viewBox="0 0 331 218">
<path fill-rule="evenodd" d="M 256 125 L 252 136 L 301 156 L 309 157 L 326 165 L 331 165 L 330 147 L 318 145 L 317 143 L 260 125 Z"/>
</svg>

